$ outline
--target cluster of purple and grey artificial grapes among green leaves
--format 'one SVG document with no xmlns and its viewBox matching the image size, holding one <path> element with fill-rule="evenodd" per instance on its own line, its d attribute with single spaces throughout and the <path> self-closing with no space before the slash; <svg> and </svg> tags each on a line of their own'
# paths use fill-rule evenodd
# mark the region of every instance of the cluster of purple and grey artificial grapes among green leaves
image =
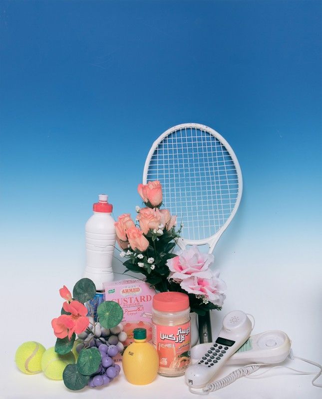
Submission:
<svg viewBox="0 0 322 399">
<path fill-rule="evenodd" d="M 89 319 L 90 332 L 78 335 L 78 339 L 82 342 L 76 346 L 76 351 L 79 353 L 83 348 L 96 346 L 101 354 L 98 370 L 91 375 L 88 381 L 88 386 L 94 388 L 109 384 L 119 375 L 121 368 L 115 364 L 113 357 L 124 350 L 122 343 L 127 339 L 127 334 L 123 331 L 121 323 L 108 329 L 101 327 L 98 322 L 94 323 L 92 318 Z"/>
</svg>

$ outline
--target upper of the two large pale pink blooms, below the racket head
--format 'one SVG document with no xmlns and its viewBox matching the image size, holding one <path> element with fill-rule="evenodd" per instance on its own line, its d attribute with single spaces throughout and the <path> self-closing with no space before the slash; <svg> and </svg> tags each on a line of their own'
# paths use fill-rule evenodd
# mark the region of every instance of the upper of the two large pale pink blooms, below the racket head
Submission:
<svg viewBox="0 0 322 399">
<path fill-rule="evenodd" d="M 178 256 L 167 260 L 167 266 L 171 273 L 169 278 L 180 282 L 191 276 L 200 278 L 211 278 L 212 273 L 208 270 L 209 265 L 214 261 L 210 253 L 201 253 L 197 245 L 178 253 Z"/>
</svg>

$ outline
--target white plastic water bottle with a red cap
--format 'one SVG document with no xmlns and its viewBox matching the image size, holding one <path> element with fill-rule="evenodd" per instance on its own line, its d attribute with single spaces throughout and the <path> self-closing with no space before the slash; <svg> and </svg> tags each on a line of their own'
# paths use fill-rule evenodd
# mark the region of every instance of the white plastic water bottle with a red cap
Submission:
<svg viewBox="0 0 322 399">
<path fill-rule="evenodd" d="M 115 247 L 115 220 L 113 205 L 107 202 L 107 196 L 100 194 L 98 202 L 93 204 L 94 214 L 85 225 L 86 268 L 84 277 L 90 278 L 97 291 L 103 290 L 105 281 L 113 281 L 112 260 Z"/>
</svg>

